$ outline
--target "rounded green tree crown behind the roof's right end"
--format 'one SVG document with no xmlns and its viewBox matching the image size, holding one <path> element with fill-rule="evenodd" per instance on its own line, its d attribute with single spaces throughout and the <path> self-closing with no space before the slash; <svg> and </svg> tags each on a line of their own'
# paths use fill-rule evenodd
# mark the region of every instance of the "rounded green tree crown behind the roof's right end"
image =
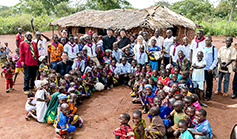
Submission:
<svg viewBox="0 0 237 139">
<path fill-rule="evenodd" d="M 172 9 L 192 20 L 207 20 L 212 16 L 214 7 L 208 0 L 182 0 L 175 2 Z"/>
</svg>

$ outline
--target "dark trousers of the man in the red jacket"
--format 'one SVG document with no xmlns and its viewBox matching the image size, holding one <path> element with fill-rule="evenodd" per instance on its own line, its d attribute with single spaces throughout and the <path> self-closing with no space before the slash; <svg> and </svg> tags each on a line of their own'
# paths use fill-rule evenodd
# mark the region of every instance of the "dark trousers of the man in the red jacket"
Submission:
<svg viewBox="0 0 237 139">
<path fill-rule="evenodd" d="M 25 66 L 24 68 L 24 91 L 29 91 L 29 89 L 33 89 L 35 86 L 35 78 L 36 78 L 37 65 L 34 66 Z"/>
</svg>

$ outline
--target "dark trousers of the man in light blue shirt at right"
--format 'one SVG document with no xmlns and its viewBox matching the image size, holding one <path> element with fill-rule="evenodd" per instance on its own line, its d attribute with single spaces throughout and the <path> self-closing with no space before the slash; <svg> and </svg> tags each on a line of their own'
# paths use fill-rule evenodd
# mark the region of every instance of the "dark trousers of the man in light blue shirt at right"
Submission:
<svg viewBox="0 0 237 139">
<path fill-rule="evenodd" d="M 212 96 L 212 88 L 213 88 L 213 74 L 208 73 L 205 70 L 205 82 L 206 82 L 206 98 L 211 99 Z"/>
</svg>

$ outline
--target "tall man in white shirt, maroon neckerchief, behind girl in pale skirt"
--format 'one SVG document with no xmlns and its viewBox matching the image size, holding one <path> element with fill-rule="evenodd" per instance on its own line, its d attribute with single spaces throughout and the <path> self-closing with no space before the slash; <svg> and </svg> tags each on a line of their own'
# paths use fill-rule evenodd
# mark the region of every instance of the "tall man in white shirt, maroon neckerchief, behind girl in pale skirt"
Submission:
<svg viewBox="0 0 237 139">
<path fill-rule="evenodd" d="M 197 36 L 192 40 L 190 49 L 190 61 L 193 63 L 194 59 L 197 57 L 197 52 L 202 51 L 203 48 L 206 46 L 205 44 L 205 37 L 203 36 L 203 31 L 198 30 Z"/>
</svg>

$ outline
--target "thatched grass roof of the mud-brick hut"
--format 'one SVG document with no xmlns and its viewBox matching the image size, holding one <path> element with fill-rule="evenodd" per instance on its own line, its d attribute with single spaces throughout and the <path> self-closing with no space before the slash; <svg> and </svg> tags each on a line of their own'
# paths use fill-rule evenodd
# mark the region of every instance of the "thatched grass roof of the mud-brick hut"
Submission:
<svg viewBox="0 0 237 139">
<path fill-rule="evenodd" d="M 115 9 L 108 11 L 84 10 L 49 23 L 61 27 L 93 27 L 113 30 L 145 28 L 172 28 L 183 26 L 195 29 L 195 23 L 164 6 L 153 6 L 146 9 Z"/>
</svg>

